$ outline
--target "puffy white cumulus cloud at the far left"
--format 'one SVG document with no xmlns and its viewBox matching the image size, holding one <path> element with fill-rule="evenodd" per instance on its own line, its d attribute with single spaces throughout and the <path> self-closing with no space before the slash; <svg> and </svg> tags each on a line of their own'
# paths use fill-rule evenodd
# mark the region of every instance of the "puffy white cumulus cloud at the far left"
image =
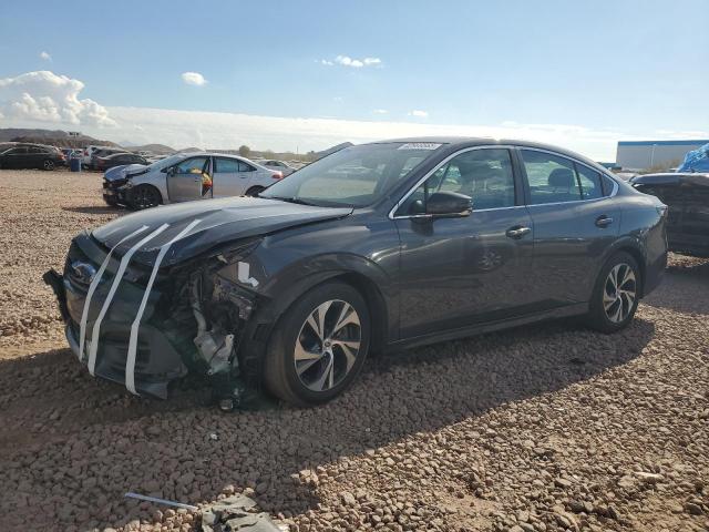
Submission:
<svg viewBox="0 0 709 532">
<path fill-rule="evenodd" d="M 79 99 L 83 88 L 79 80 L 47 70 L 0 79 L 0 114 L 8 120 L 37 123 L 115 125 L 103 105 Z"/>
</svg>

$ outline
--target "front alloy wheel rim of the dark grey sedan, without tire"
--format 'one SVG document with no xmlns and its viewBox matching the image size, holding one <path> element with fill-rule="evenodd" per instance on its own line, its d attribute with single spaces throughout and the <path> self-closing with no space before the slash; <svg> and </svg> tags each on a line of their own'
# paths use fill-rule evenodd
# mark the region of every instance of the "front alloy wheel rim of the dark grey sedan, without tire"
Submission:
<svg viewBox="0 0 709 532">
<path fill-rule="evenodd" d="M 294 364 L 298 379 L 311 391 L 335 388 L 354 366 L 361 341 L 354 307 L 340 299 L 318 305 L 296 338 Z"/>
</svg>

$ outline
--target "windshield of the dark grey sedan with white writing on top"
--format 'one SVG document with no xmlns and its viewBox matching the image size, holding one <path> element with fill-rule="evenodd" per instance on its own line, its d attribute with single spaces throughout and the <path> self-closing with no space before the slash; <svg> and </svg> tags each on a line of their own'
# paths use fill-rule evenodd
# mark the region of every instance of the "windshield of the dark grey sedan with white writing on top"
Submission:
<svg viewBox="0 0 709 532">
<path fill-rule="evenodd" d="M 384 197 L 440 146 L 429 142 L 390 142 L 347 147 L 271 185 L 259 197 L 364 207 Z"/>
</svg>

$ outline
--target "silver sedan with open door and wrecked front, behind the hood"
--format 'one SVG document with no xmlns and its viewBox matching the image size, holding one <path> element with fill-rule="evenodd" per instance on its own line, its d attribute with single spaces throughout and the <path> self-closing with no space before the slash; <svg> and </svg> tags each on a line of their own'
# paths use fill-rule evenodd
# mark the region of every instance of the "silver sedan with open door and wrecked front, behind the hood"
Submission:
<svg viewBox="0 0 709 532">
<path fill-rule="evenodd" d="M 142 209 L 212 197 L 255 196 L 281 177 L 280 172 L 238 155 L 181 153 L 104 177 L 103 197 L 110 205 Z"/>
</svg>

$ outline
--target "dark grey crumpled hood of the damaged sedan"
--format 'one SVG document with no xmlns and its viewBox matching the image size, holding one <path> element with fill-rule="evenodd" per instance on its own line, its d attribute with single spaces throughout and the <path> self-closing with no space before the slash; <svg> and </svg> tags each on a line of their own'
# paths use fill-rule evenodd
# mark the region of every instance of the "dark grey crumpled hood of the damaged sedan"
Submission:
<svg viewBox="0 0 709 532">
<path fill-rule="evenodd" d="M 117 245 L 114 252 L 116 256 L 124 255 L 145 239 L 134 252 L 133 260 L 151 266 L 160 247 L 192 225 L 165 255 L 162 265 L 169 266 L 223 244 L 298 225 L 341 218 L 351 212 L 350 207 L 314 207 L 257 197 L 201 200 L 123 216 L 94 229 L 92 236 L 107 248 Z M 151 234 L 163 226 L 165 228 L 162 232 L 151 237 Z M 138 232 L 141 228 L 143 231 Z M 135 232 L 138 233 L 124 239 Z"/>
</svg>

